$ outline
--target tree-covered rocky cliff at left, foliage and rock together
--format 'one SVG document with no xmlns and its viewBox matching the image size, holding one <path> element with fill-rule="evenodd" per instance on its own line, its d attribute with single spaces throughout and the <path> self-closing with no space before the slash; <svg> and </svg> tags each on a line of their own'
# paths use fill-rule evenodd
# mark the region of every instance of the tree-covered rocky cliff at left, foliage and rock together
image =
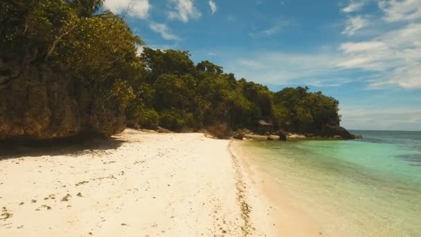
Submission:
<svg viewBox="0 0 421 237">
<path fill-rule="evenodd" d="M 111 135 L 144 71 L 141 39 L 101 1 L 0 2 L 0 139 Z"/>
</svg>

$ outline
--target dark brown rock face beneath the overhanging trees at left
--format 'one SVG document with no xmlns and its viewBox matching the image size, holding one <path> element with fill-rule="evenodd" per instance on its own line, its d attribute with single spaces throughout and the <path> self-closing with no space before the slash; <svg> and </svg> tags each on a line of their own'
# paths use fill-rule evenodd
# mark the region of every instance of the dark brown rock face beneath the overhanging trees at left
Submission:
<svg viewBox="0 0 421 237">
<path fill-rule="evenodd" d="M 43 65 L 6 64 L 0 57 L 0 139 L 109 136 L 123 131 L 124 113 L 114 105 L 96 103 L 89 93 L 83 96 L 84 89 L 75 81 Z"/>
</svg>

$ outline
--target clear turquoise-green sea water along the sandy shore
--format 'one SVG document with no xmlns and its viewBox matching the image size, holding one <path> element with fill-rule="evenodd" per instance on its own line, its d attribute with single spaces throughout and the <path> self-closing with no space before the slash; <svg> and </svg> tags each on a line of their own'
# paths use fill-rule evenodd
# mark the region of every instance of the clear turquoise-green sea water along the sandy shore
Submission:
<svg viewBox="0 0 421 237">
<path fill-rule="evenodd" d="M 421 236 L 421 132 L 352 132 L 364 139 L 241 146 L 326 234 Z"/>
</svg>

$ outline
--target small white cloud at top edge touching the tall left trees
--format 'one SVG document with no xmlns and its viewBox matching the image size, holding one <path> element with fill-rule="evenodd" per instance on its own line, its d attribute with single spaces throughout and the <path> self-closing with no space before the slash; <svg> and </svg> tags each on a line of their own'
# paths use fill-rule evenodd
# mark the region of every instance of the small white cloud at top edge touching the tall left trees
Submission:
<svg viewBox="0 0 421 237">
<path fill-rule="evenodd" d="M 152 8 L 149 0 L 105 0 L 104 7 L 115 14 L 145 19 Z"/>
</svg>

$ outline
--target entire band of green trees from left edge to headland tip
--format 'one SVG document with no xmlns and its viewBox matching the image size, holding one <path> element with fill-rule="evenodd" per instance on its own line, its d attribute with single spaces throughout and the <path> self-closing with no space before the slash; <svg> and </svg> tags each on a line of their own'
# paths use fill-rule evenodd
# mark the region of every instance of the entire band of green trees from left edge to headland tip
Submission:
<svg viewBox="0 0 421 237">
<path fill-rule="evenodd" d="M 93 124 L 93 114 L 98 121 L 104 114 L 125 114 L 129 125 L 175 131 L 253 130 L 259 120 L 272 123 L 275 130 L 322 135 L 339 127 L 339 101 L 320 91 L 297 87 L 273 92 L 238 80 L 207 60 L 194 64 L 188 51 L 143 47 L 138 55 L 141 37 L 112 12 L 98 13 L 101 5 L 100 0 L 1 1 L 0 90 L 19 87 L 14 80 L 26 67 L 48 67 L 57 72 L 57 83 L 62 73 L 68 74 L 66 94 L 77 104 L 76 114 L 89 121 L 82 119 L 78 132 L 103 132 L 105 128 Z M 2 116 L 10 120 L 5 114 L 0 108 L 0 121 Z M 48 121 L 46 130 L 55 128 L 51 123 L 57 119 Z"/>
</svg>

